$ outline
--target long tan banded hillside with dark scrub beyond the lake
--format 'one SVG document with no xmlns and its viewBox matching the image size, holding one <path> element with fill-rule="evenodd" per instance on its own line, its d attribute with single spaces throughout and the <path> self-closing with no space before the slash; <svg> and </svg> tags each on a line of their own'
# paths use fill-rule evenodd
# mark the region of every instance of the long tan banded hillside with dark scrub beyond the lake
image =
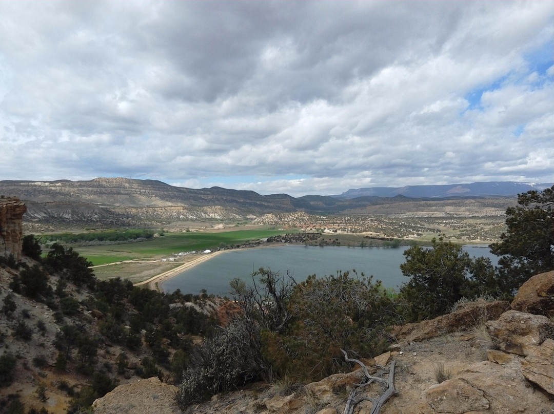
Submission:
<svg viewBox="0 0 554 414">
<path fill-rule="evenodd" d="M 188 189 L 155 180 L 96 178 L 90 181 L 1 181 L 0 194 L 27 203 L 29 231 L 59 227 L 168 225 L 178 221 L 241 221 L 264 214 L 386 216 L 501 216 L 515 198 L 454 197 L 448 199 L 286 194 L 260 195 L 219 187 Z"/>
</svg>

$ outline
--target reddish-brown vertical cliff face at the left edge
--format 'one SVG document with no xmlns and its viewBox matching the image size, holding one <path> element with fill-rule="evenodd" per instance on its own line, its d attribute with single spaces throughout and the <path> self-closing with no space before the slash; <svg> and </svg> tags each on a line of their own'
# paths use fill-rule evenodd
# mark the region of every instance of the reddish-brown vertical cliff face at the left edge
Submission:
<svg viewBox="0 0 554 414">
<path fill-rule="evenodd" d="M 13 254 L 21 259 L 23 214 L 27 208 L 17 197 L 0 198 L 0 256 Z"/>
</svg>

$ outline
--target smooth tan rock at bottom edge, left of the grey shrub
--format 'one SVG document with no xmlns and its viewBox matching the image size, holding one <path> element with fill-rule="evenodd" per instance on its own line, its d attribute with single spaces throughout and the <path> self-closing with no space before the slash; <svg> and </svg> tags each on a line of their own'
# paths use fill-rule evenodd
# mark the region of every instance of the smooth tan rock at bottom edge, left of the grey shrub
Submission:
<svg viewBox="0 0 554 414">
<path fill-rule="evenodd" d="M 120 385 L 94 401 L 94 414 L 179 414 L 175 403 L 177 387 L 157 377 Z"/>
</svg>

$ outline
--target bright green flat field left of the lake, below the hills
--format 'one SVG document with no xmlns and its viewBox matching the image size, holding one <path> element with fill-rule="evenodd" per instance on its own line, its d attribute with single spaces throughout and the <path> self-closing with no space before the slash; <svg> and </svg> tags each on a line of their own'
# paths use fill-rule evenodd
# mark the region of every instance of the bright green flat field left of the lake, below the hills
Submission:
<svg viewBox="0 0 554 414">
<path fill-rule="evenodd" d="M 237 245 L 248 240 L 264 239 L 285 233 L 286 231 L 283 230 L 166 233 L 165 236 L 152 240 L 118 245 L 75 247 L 75 250 L 97 266 L 137 258 L 159 258 L 172 253 Z"/>
</svg>

